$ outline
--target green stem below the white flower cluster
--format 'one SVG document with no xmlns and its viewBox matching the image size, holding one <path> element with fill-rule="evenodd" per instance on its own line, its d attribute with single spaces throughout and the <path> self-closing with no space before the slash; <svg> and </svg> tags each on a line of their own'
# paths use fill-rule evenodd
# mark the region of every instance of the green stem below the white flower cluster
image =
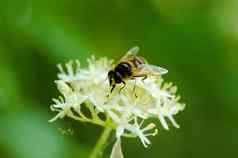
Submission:
<svg viewBox="0 0 238 158">
<path fill-rule="evenodd" d="M 100 138 L 97 141 L 94 149 L 92 150 L 89 158 L 99 158 L 102 156 L 105 144 L 107 142 L 108 137 L 110 136 L 112 128 L 109 126 L 105 126 L 104 131 L 102 132 Z"/>
</svg>

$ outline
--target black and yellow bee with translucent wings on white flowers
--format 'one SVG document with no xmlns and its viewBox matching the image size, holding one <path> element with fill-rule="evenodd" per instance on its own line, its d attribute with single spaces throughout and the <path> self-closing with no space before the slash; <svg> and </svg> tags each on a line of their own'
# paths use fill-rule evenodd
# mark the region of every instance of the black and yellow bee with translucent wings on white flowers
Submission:
<svg viewBox="0 0 238 158">
<path fill-rule="evenodd" d="M 123 89 L 127 80 L 135 80 L 137 77 L 161 76 L 168 70 L 165 68 L 150 65 L 145 58 L 138 56 L 139 47 L 133 47 L 119 60 L 112 70 L 108 72 L 108 80 L 111 93 L 117 84 L 123 84 Z M 121 90 L 120 89 L 120 90 Z"/>
</svg>

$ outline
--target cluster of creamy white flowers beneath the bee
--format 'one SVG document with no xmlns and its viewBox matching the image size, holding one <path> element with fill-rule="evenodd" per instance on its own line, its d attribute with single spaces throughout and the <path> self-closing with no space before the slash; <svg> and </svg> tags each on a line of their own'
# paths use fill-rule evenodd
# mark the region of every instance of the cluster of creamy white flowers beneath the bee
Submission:
<svg viewBox="0 0 238 158">
<path fill-rule="evenodd" d="M 139 137 L 145 147 L 150 144 L 148 136 L 158 132 L 151 122 L 155 119 L 149 118 L 158 118 L 166 130 L 169 129 L 166 118 L 179 128 L 173 116 L 185 106 L 178 102 L 176 86 L 163 83 L 161 77 L 128 80 L 125 88 L 120 90 L 122 85 L 117 85 L 110 93 L 107 74 L 113 68 L 112 60 L 96 60 L 92 56 L 86 68 L 78 61 L 58 65 L 58 68 L 60 72 L 55 83 L 61 96 L 53 99 L 51 109 L 58 114 L 51 122 L 67 116 L 81 122 L 110 126 L 115 129 L 118 139 Z"/>
</svg>

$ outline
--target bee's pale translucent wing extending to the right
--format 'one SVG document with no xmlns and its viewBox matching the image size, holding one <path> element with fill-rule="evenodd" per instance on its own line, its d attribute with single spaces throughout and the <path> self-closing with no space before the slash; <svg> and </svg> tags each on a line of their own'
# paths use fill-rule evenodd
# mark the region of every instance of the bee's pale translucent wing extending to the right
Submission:
<svg viewBox="0 0 238 158">
<path fill-rule="evenodd" d="M 139 69 L 144 71 L 145 73 L 154 74 L 154 75 L 164 75 L 168 73 L 168 70 L 156 65 L 149 64 L 141 64 L 139 65 Z"/>
</svg>

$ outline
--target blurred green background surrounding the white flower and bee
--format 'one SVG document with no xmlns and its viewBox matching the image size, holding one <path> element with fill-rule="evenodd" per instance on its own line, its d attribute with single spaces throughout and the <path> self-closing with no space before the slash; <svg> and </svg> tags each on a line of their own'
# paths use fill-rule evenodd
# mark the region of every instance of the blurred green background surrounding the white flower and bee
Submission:
<svg viewBox="0 0 238 158">
<path fill-rule="evenodd" d="M 0 157 L 86 158 L 101 128 L 47 122 L 56 64 L 85 65 L 91 53 L 119 59 L 135 45 L 169 70 L 187 107 L 176 115 L 180 129 L 158 121 L 148 149 L 123 139 L 125 157 L 235 157 L 237 12 L 236 0 L 0 0 Z"/>
</svg>

